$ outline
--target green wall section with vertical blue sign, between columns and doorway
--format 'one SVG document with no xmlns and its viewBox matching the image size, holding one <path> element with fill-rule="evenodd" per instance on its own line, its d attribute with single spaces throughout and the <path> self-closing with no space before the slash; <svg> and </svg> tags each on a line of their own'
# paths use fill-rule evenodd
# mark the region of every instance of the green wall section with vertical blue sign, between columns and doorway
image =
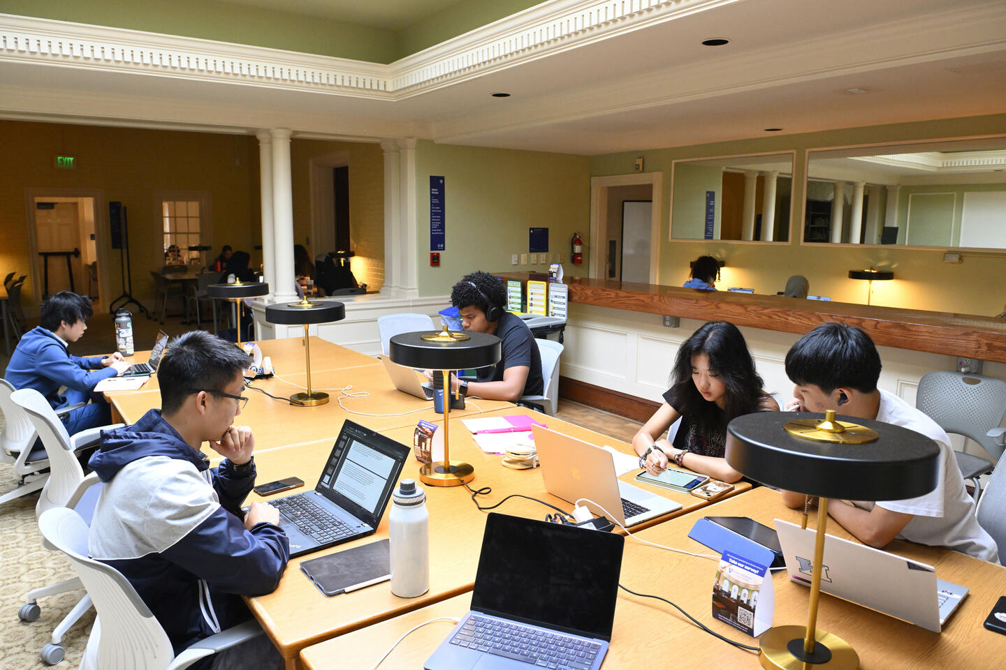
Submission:
<svg viewBox="0 0 1006 670">
<path fill-rule="evenodd" d="M 415 147 L 417 282 L 421 295 L 449 293 L 464 274 L 545 271 L 546 265 L 511 265 L 527 253 L 527 229 L 548 228 L 548 250 L 563 255 L 563 270 L 586 274 L 569 263 L 569 238 L 584 238 L 591 218 L 591 159 L 585 156 L 438 145 Z M 447 249 L 440 267 L 430 267 L 430 177 L 444 177 Z"/>
</svg>

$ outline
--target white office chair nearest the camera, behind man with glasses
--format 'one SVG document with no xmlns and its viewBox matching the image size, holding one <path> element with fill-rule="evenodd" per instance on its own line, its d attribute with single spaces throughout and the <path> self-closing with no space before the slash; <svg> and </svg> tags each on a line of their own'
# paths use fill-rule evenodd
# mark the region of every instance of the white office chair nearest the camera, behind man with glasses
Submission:
<svg viewBox="0 0 1006 670">
<path fill-rule="evenodd" d="M 262 635 L 254 620 L 201 640 L 178 656 L 164 628 L 133 586 L 114 568 L 88 556 L 88 523 L 76 511 L 58 507 L 42 513 L 45 541 L 66 554 L 95 601 L 98 618 L 80 670 L 183 670 L 199 659 Z"/>
</svg>

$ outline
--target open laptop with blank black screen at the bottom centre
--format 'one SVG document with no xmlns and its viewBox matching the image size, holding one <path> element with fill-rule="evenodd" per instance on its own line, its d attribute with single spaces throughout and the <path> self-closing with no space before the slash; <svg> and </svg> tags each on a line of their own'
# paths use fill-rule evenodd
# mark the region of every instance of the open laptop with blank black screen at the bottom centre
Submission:
<svg viewBox="0 0 1006 670">
<path fill-rule="evenodd" d="M 597 670 L 612 639 L 624 546 L 619 533 L 490 512 L 472 610 L 423 667 Z"/>
</svg>

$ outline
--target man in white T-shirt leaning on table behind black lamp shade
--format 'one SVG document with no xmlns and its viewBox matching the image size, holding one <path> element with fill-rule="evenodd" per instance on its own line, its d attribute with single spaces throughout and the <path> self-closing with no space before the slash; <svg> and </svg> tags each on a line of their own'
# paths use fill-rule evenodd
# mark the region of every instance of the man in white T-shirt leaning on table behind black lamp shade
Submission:
<svg viewBox="0 0 1006 670">
<path fill-rule="evenodd" d="M 831 500 L 828 514 L 842 527 L 877 548 L 897 537 L 998 562 L 996 542 L 978 524 L 947 433 L 921 411 L 877 389 L 880 355 L 869 336 L 844 323 L 822 323 L 790 349 L 786 374 L 796 384 L 788 409 L 835 410 L 882 421 L 921 433 L 940 446 L 940 478 L 933 491 L 907 500 Z M 803 493 L 783 492 L 790 507 L 802 507 L 805 498 Z M 815 498 L 810 501 L 816 504 Z"/>
</svg>

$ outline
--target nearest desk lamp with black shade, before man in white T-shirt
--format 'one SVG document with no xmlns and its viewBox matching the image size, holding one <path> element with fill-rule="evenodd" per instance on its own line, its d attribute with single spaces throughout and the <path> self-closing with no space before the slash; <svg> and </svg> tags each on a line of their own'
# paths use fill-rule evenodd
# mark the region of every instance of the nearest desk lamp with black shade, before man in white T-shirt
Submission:
<svg viewBox="0 0 1006 670">
<path fill-rule="evenodd" d="M 726 462 L 763 484 L 818 496 L 810 614 L 803 626 L 777 626 L 762 635 L 764 668 L 854 669 L 859 657 L 836 635 L 817 629 L 828 499 L 902 500 L 929 493 L 940 477 L 940 448 L 900 426 L 825 415 L 760 412 L 727 427 Z M 807 519 L 804 518 L 804 527 Z"/>
</svg>

